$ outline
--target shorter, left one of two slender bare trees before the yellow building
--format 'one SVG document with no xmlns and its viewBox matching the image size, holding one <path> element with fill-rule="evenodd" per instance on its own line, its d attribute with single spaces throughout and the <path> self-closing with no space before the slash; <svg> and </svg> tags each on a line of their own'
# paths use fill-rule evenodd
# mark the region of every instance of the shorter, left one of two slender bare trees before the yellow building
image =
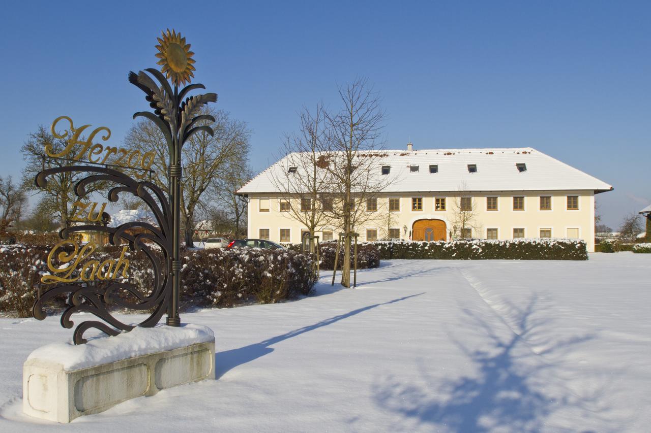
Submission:
<svg viewBox="0 0 651 433">
<path fill-rule="evenodd" d="M 299 122 L 299 132 L 286 137 L 281 150 L 284 166 L 271 172 L 271 181 L 280 192 L 283 215 L 309 231 L 310 251 L 314 252 L 314 233 L 330 221 L 324 211 L 324 206 L 330 207 L 324 193 L 330 189 L 331 176 L 327 170 L 329 155 L 322 151 L 327 146 L 323 104 L 318 103 L 314 112 L 303 107 Z"/>
</svg>

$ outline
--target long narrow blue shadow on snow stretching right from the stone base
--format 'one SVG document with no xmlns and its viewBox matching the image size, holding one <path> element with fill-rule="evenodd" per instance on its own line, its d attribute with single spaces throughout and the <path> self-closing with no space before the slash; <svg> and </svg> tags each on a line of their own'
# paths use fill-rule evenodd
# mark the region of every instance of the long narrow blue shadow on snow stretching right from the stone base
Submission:
<svg viewBox="0 0 651 433">
<path fill-rule="evenodd" d="M 292 330 L 285 334 L 271 337 L 264 341 L 260 341 L 260 343 L 255 343 L 253 345 L 248 345 L 245 347 L 218 352 L 217 354 L 215 354 L 215 376 L 216 378 L 220 378 L 221 376 L 223 376 L 223 374 L 227 373 L 227 371 L 229 371 L 230 369 L 234 369 L 235 367 L 238 367 L 238 365 L 242 365 L 247 362 L 256 360 L 262 356 L 265 356 L 266 354 L 273 352 L 273 348 L 271 348 L 270 346 L 274 345 L 275 343 L 279 343 L 286 339 L 296 337 L 297 335 L 305 334 L 305 332 L 310 332 L 315 329 L 328 326 L 329 324 L 339 322 L 342 319 L 346 319 L 347 317 L 352 317 L 359 313 L 363 313 L 364 311 L 368 311 L 369 309 L 373 309 L 383 305 L 394 304 L 395 302 L 400 302 L 402 300 L 413 298 L 415 296 L 421 296 L 422 294 L 423 293 L 417 293 L 415 295 L 402 296 L 402 298 L 396 298 L 387 302 L 381 302 L 380 304 L 373 304 L 363 308 L 353 309 L 353 311 L 349 311 L 348 313 L 336 315 L 330 317 L 329 319 L 325 319 L 320 322 L 316 322 L 315 324 L 311 324 L 309 326 L 303 326 L 303 328 L 298 328 L 296 330 Z"/>
</svg>

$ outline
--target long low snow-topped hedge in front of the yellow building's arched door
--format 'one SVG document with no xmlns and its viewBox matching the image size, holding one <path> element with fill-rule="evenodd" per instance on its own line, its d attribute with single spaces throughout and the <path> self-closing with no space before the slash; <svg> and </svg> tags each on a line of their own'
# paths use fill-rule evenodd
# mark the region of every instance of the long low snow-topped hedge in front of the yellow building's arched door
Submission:
<svg viewBox="0 0 651 433">
<path fill-rule="evenodd" d="M 380 250 L 381 259 L 588 259 L 585 242 L 577 239 L 378 241 L 374 244 Z"/>
</svg>

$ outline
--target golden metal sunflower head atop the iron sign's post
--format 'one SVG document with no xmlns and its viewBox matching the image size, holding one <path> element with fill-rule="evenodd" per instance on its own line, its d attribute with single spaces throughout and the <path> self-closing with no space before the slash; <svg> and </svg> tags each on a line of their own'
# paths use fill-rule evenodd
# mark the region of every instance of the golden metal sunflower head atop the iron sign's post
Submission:
<svg viewBox="0 0 651 433">
<path fill-rule="evenodd" d="M 174 29 L 167 33 L 163 32 L 163 38 L 158 38 L 160 45 L 157 45 L 159 53 L 156 57 L 160 60 L 156 64 L 162 66 L 161 72 L 165 74 L 168 79 L 172 80 L 175 86 L 185 85 L 190 82 L 190 77 L 194 77 L 195 71 L 192 56 L 195 55 L 190 50 L 190 44 L 186 44 L 186 38 L 182 38 L 180 33 L 176 33 Z"/>
</svg>

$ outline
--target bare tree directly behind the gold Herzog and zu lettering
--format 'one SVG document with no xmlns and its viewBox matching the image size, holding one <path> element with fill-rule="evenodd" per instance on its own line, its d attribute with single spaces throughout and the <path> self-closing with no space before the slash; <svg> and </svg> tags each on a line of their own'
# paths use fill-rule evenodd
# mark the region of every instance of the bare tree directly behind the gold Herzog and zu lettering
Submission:
<svg viewBox="0 0 651 433">
<path fill-rule="evenodd" d="M 80 141 L 83 141 L 80 140 Z M 85 177 L 85 174 L 64 172 L 48 176 L 48 186 L 45 189 L 36 187 L 34 179 L 36 174 L 41 170 L 68 166 L 74 164 L 72 161 L 64 159 L 43 158 L 45 146 L 51 146 L 52 153 L 60 153 L 68 145 L 66 140 L 55 138 L 49 131 L 43 127 L 38 127 L 38 131 L 31 133 L 29 139 L 23 147 L 23 159 L 27 163 L 23 170 L 23 189 L 27 192 L 43 192 L 43 198 L 39 203 L 40 211 L 48 215 L 52 220 L 55 218 L 59 224 L 63 224 L 71 219 L 74 211 L 73 203 L 77 201 L 74 194 L 74 187 L 77 181 Z M 71 153 L 81 150 L 81 145 L 77 144 L 72 148 Z M 90 183 L 86 187 L 87 197 L 92 196 L 95 192 L 100 192 L 107 187 L 104 182 Z"/>
</svg>

